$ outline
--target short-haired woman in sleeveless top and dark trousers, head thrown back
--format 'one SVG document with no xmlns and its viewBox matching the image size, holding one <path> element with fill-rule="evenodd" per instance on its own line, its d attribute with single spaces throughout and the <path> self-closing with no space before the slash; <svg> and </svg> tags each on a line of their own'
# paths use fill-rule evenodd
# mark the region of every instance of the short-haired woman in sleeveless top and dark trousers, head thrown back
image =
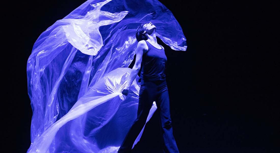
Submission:
<svg viewBox="0 0 280 153">
<path fill-rule="evenodd" d="M 160 111 L 161 132 L 165 143 L 164 151 L 166 153 L 179 152 L 172 134 L 169 93 L 165 78 L 167 57 L 165 56 L 164 48 L 157 43 L 155 32 L 156 26 L 151 22 L 141 24 L 136 30 L 136 39 L 138 41 L 136 62 L 130 73 L 128 84 L 123 89 L 122 94 L 128 94 L 129 87 L 136 78 L 142 64 L 137 118 L 123 140 L 118 153 L 131 152 L 134 140 L 146 122 L 153 101 L 156 102 Z"/>
</svg>

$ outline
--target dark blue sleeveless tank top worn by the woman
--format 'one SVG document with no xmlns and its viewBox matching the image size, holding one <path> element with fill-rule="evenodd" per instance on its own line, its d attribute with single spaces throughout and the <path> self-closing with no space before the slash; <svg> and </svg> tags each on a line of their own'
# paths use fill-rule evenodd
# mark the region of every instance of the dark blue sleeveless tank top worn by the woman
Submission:
<svg viewBox="0 0 280 153">
<path fill-rule="evenodd" d="M 145 40 L 146 41 L 146 40 Z M 164 49 L 155 48 L 148 41 L 148 51 L 143 53 L 141 62 L 141 74 L 138 82 L 165 80 L 167 57 Z"/>
</svg>

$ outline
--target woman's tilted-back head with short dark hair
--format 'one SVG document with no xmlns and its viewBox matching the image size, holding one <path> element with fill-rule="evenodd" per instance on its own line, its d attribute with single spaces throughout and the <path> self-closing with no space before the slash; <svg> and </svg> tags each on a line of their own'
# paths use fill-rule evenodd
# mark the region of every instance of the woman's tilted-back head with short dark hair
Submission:
<svg viewBox="0 0 280 153">
<path fill-rule="evenodd" d="M 151 34 L 153 30 L 156 30 L 156 26 L 151 22 L 142 23 L 136 29 L 136 39 L 137 41 L 147 40 L 148 37 L 146 34 Z"/>
</svg>

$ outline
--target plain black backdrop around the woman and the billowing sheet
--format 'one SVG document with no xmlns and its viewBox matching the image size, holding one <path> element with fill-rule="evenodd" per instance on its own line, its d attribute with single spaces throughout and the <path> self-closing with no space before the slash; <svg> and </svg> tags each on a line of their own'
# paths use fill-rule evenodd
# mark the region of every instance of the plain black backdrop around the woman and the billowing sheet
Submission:
<svg viewBox="0 0 280 153">
<path fill-rule="evenodd" d="M 7 41 L 2 61 L 10 73 L 4 80 L 8 101 L 2 101 L 8 102 L 2 108 L 7 152 L 26 152 L 31 143 L 26 64 L 35 41 L 83 2 L 20 1 L 2 6 L 7 9 L 3 16 L 9 18 L 2 20 L 2 32 L 8 32 L 2 36 Z M 173 134 L 180 152 L 279 151 L 277 5 L 268 1 L 160 2 L 178 20 L 188 45 L 186 51 L 175 51 L 158 39 L 168 59 Z M 158 147 L 157 128 L 154 115 L 135 149 Z"/>
</svg>

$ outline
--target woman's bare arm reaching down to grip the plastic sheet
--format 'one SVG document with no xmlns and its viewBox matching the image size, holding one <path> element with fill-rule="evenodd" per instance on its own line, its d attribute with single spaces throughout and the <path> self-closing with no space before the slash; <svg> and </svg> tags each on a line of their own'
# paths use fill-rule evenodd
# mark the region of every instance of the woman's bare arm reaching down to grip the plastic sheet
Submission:
<svg viewBox="0 0 280 153">
<path fill-rule="evenodd" d="M 146 45 L 146 43 L 144 42 L 144 40 L 139 41 L 138 44 L 137 44 L 135 64 L 132 68 L 132 71 L 131 71 L 129 77 L 128 77 L 127 85 L 125 86 L 125 88 L 122 91 L 122 94 L 124 94 L 126 96 L 128 94 L 128 91 L 129 91 L 129 88 L 130 88 L 132 82 L 136 78 L 136 75 L 139 73 L 139 70 L 141 68 L 142 56 L 143 56 L 145 45 Z"/>
</svg>

